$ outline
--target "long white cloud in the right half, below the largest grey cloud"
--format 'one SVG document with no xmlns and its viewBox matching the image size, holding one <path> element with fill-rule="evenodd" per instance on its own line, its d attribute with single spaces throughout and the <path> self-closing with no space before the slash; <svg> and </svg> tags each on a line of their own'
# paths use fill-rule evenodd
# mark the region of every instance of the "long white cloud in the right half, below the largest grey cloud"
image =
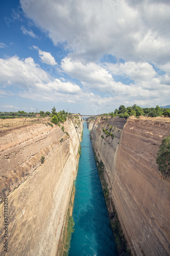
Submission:
<svg viewBox="0 0 170 256">
<path fill-rule="evenodd" d="M 118 99 L 122 102 L 140 102 L 141 105 L 159 101 L 163 94 L 169 97 L 169 87 L 163 82 L 149 63 L 125 62 L 105 63 L 103 67 L 96 63 L 82 63 L 66 57 L 62 60 L 61 68 L 72 77 L 80 79 L 84 88 L 95 89 L 103 93 L 104 98 Z M 130 77 L 134 83 L 129 85 L 115 82 L 113 75 Z M 120 98 L 122 97 L 122 99 Z M 153 102 L 152 102 L 153 104 Z"/>
</svg>

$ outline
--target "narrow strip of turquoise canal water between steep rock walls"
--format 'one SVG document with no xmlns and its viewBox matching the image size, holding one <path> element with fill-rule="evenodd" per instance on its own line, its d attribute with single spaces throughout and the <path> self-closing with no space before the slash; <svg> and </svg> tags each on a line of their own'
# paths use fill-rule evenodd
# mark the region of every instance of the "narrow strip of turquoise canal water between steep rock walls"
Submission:
<svg viewBox="0 0 170 256">
<path fill-rule="evenodd" d="M 75 231 L 69 256 L 116 256 L 117 249 L 86 123 L 81 146 L 72 214 Z"/>
</svg>

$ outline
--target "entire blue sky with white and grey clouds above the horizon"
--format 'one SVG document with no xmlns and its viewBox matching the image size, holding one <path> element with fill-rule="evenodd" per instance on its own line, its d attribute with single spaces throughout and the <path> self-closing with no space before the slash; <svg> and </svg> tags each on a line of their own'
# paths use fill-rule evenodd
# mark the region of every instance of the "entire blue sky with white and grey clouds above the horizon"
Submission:
<svg viewBox="0 0 170 256">
<path fill-rule="evenodd" d="M 0 2 L 0 111 L 170 104 L 169 0 Z"/>
</svg>

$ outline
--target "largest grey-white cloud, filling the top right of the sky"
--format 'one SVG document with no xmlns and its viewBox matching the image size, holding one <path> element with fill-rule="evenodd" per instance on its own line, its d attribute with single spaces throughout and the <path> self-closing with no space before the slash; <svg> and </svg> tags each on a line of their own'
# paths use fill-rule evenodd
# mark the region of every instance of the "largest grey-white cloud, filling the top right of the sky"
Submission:
<svg viewBox="0 0 170 256">
<path fill-rule="evenodd" d="M 96 61 L 110 53 L 164 63 L 170 57 L 168 1 L 37 0 L 27 9 L 21 6 L 55 45 L 66 41 L 75 58 Z"/>
</svg>

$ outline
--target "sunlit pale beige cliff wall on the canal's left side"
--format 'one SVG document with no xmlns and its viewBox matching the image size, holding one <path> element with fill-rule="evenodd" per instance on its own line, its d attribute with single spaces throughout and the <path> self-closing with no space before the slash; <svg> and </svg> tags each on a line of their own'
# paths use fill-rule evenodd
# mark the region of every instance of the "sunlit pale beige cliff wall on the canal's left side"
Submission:
<svg viewBox="0 0 170 256">
<path fill-rule="evenodd" d="M 56 255 L 72 183 L 82 123 L 37 123 L 1 135 L 1 200 L 8 198 L 8 255 Z M 65 133 L 67 132 L 68 135 Z M 44 163 L 41 163 L 44 156 Z M 4 230 L 4 202 L 1 203 Z M 4 252 L 4 231 L 0 254 Z"/>
</svg>

